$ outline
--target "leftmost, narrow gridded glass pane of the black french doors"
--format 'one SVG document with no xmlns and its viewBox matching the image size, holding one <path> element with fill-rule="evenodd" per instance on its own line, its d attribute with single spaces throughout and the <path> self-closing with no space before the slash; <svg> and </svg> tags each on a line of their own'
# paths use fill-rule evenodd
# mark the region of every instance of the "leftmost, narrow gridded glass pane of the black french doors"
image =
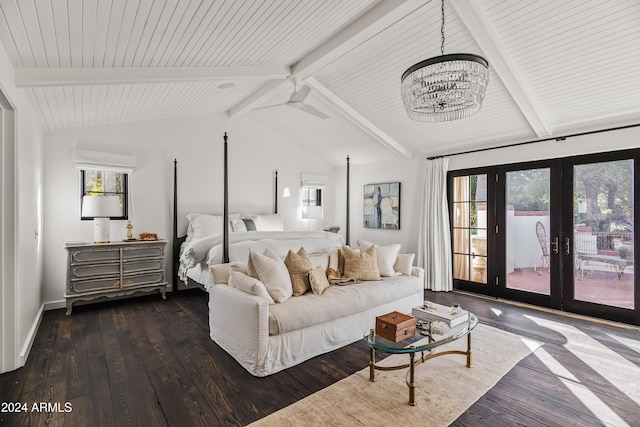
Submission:
<svg viewBox="0 0 640 427">
<path fill-rule="evenodd" d="M 453 181 L 453 277 L 487 283 L 487 176 Z"/>
</svg>

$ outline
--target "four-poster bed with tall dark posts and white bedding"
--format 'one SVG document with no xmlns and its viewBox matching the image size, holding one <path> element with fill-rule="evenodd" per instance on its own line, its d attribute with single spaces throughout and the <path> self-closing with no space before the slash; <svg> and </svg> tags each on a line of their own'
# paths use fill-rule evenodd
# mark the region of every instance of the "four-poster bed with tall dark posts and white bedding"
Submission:
<svg viewBox="0 0 640 427">
<path fill-rule="evenodd" d="M 246 262 L 249 250 L 264 251 L 270 248 L 284 257 L 289 249 L 304 246 L 310 253 L 326 252 L 341 247 L 342 237 L 325 231 L 288 231 L 284 229 L 278 213 L 278 171 L 274 174 L 273 213 L 229 214 L 229 162 L 228 135 L 225 132 L 223 150 L 223 209 L 222 215 L 191 213 L 187 215 L 187 233 L 178 231 L 178 174 L 174 159 L 173 192 L 173 277 L 174 291 L 200 288 L 206 290 L 213 284 L 213 265 L 228 262 Z M 347 157 L 347 244 L 349 242 L 349 158 Z"/>
</svg>

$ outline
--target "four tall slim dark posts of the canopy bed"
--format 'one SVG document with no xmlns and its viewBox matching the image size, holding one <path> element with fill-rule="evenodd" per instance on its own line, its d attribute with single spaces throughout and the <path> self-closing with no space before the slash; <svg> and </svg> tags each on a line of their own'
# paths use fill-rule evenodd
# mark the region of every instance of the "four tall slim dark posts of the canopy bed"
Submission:
<svg viewBox="0 0 640 427">
<path fill-rule="evenodd" d="M 226 224 L 229 223 L 229 137 L 227 133 L 224 133 L 222 137 L 224 141 L 224 151 L 223 151 L 223 207 L 222 207 L 222 222 L 225 226 L 222 229 L 222 262 L 229 262 L 229 227 Z M 349 156 L 347 156 L 347 206 L 346 206 L 346 230 L 345 230 L 345 241 L 347 246 L 349 246 L 349 193 L 350 193 L 350 184 L 349 184 Z M 274 203 L 273 203 L 273 211 L 274 213 L 278 213 L 278 170 L 276 169 L 274 174 Z M 173 291 L 178 291 L 177 283 L 178 279 L 178 268 L 180 265 L 180 246 L 186 240 L 186 236 L 178 235 L 178 160 L 173 159 L 173 280 L 175 286 L 173 287 Z M 191 280 L 191 279 L 189 279 Z M 194 282 L 194 284 L 196 284 Z M 197 284 L 196 284 L 197 285 Z M 199 286 L 200 287 L 200 286 Z"/>
</svg>

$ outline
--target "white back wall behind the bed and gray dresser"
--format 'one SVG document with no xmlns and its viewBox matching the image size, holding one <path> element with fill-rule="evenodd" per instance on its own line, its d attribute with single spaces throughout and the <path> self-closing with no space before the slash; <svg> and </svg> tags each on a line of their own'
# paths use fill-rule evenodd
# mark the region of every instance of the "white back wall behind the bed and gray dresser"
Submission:
<svg viewBox="0 0 640 427">
<path fill-rule="evenodd" d="M 44 300 L 54 303 L 51 307 L 61 306 L 67 262 L 64 243 L 93 237 L 92 223 L 79 218 L 74 148 L 134 154 L 137 166 L 131 175 L 130 202 L 134 235 L 152 232 L 171 240 L 173 159 L 178 160 L 179 228 L 184 234 L 187 213 L 222 213 L 225 132 L 229 135 L 229 213 L 271 213 L 277 169 L 278 211 L 287 229 L 319 229 L 334 222 L 334 168 L 245 119 L 203 115 L 49 131 L 45 136 Z M 301 219 L 300 173 L 328 176 L 324 220 Z M 290 197 L 282 196 L 285 189 Z M 125 226 L 126 221 L 111 221 L 111 240 L 125 238 Z"/>
</svg>

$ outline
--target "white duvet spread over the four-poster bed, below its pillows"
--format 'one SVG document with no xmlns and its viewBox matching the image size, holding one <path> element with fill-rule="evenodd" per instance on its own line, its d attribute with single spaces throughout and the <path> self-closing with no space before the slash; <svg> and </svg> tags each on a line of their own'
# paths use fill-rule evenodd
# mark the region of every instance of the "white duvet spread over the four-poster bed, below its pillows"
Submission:
<svg viewBox="0 0 640 427">
<path fill-rule="evenodd" d="M 342 236 L 326 231 L 245 231 L 229 233 L 229 261 L 247 262 L 249 249 L 263 252 L 271 248 L 284 258 L 289 249 L 304 247 L 307 253 L 328 252 L 342 246 Z M 180 279 L 186 281 L 191 270 L 198 265 L 209 268 L 222 264 L 222 234 L 193 239 L 184 243 L 180 255 Z M 202 270 L 202 268 L 200 268 Z M 204 272 L 203 274 L 210 273 Z M 192 277 L 193 278 L 193 277 Z M 195 280 L 195 278 L 193 278 Z M 209 281 L 212 279 L 207 278 Z M 198 283 L 206 284 L 202 281 Z"/>
</svg>

